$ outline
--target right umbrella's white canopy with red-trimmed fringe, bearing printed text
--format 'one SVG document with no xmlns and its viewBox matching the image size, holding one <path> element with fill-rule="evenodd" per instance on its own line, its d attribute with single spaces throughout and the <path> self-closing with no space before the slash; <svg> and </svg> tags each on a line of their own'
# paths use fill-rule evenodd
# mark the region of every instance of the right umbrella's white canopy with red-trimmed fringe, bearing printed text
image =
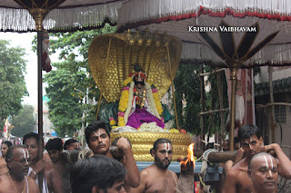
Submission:
<svg viewBox="0 0 291 193">
<path fill-rule="evenodd" d="M 178 37 L 184 42 L 183 55 L 185 59 L 196 61 L 211 61 L 220 66 L 222 60 L 218 57 L 209 42 L 206 42 L 200 31 L 206 32 L 213 42 L 217 43 L 226 53 L 224 46 L 229 41 L 235 43 L 235 49 L 242 43 L 246 31 L 234 32 L 228 37 L 222 37 L 209 28 L 216 27 L 224 21 L 232 27 L 250 27 L 258 24 L 254 42 L 249 43 L 247 52 L 254 49 L 269 35 L 278 32 L 274 40 L 246 61 L 250 65 L 289 65 L 291 61 L 291 2 L 288 0 L 131 0 L 126 2 L 118 13 L 117 30 L 125 29 L 159 30 Z M 196 29 L 194 28 L 196 27 Z M 206 28 L 208 28 L 208 32 Z M 195 30 L 194 30 L 195 29 Z M 241 30 L 241 28 L 239 29 Z M 211 47 L 211 49 L 209 49 Z M 229 46 L 226 46 L 229 48 Z M 258 50 L 258 49 L 257 49 Z"/>
</svg>

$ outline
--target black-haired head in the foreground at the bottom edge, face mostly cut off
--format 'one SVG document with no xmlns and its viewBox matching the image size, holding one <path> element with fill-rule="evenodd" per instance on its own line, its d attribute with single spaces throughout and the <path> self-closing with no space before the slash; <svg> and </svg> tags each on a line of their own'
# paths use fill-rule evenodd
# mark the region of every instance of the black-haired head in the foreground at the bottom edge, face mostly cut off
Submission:
<svg viewBox="0 0 291 193">
<path fill-rule="evenodd" d="M 73 193 L 125 193 L 126 169 L 103 155 L 80 159 L 72 169 Z"/>
</svg>

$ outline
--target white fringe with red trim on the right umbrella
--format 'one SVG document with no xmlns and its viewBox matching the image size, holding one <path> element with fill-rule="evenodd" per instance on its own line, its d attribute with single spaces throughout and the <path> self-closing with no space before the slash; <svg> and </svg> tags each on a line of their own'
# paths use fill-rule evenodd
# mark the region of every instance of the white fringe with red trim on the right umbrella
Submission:
<svg viewBox="0 0 291 193">
<path fill-rule="evenodd" d="M 256 16 L 269 20 L 291 21 L 290 9 L 291 5 L 287 1 L 281 0 L 273 0 L 271 3 L 269 1 L 254 0 L 130 1 L 119 10 L 117 32 L 138 27 L 139 25 L 196 18 L 201 14 L 209 14 L 216 17 L 225 17 L 227 14 L 231 14 L 240 18 Z"/>
</svg>

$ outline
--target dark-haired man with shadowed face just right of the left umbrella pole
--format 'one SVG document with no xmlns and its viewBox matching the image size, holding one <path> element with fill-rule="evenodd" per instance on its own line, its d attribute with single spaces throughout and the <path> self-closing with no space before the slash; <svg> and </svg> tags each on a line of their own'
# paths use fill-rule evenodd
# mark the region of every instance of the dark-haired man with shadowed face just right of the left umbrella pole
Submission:
<svg viewBox="0 0 291 193">
<path fill-rule="evenodd" d="M 58 178 L 61 179 L 61 181 L 56 181 L 55 183 L 62 187 L 63 192 L 71 192 L 69 165 L 66 165 L 65 161 L 61 159 L 63 140 L 60 138 L 48 140 L 45 144 L 45 150 L 47 150 L 48 156 L 53 162 L 52 165 L 56 171 L 55 175 L 58 175 Z"/>
</svg>

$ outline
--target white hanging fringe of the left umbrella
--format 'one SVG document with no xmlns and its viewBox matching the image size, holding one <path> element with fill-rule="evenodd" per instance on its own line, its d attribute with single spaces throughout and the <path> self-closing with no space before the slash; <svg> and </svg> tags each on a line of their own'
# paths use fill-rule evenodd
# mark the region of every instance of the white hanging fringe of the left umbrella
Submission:
<svg viewBox="0 0 291 193">
<path fill-rule="evenodd" d="M 103 5 L 54 9 L 44 20 L 44 29 L 54 31 L 76 31 L 103 26 L 105 22 L 115 24 L 117 10 L 122 1 Z M 81 14 L 80 14 L 81 13 Z M 25 9 L 0 8 L 0 31 L 35 31 L 35 20 Z"/>
</svg>

